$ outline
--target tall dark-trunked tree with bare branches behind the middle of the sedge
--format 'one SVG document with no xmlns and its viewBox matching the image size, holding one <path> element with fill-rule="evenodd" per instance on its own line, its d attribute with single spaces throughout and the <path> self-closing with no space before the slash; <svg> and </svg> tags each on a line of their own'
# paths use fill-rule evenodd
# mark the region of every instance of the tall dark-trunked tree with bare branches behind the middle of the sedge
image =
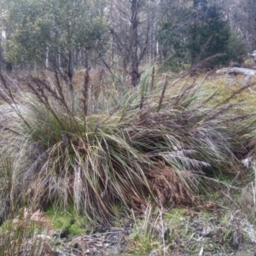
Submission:
<svg viewBox="0 0 256 256">
<path fill-rule="evenodd" d="M 154 56 L 157 8 L 157 1 L 108 1 L 111 62 L 122 71 L 124 80 L 131 78 L 133 86 L 139 83 L 145 56 Z"/>
</svg>

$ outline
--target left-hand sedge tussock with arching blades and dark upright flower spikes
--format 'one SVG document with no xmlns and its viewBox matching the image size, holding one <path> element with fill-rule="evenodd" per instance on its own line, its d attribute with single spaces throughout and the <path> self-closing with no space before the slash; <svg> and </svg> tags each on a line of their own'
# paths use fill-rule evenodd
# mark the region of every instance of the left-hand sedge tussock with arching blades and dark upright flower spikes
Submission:
<svg viewBox="0 0 256 256">
<path fill-rule="evenodd" d="M 31 197 L 40 207 L 74 204 L 78 212 L 96 218 L 109 217 L 117 201 L 126 206 L 143 201 L 140 196 L 149 190 L 143 172 L 150 164 L 120 137 L 119 119 L 87 114 L 86 79 L 83 116 L 72 115 L 59 89 L 30 77 L 27 90 L 31 93 L 20 99 L 26 109 L 17 111 L 20 126 L 16 130 L 24 138 L 20 161 L 26 165 L 15 170 L 15 178 L 22 180 L 16 184 L 23 192 L 19 196 Z M 9 98 L 15 98 L 12 91 Z M 11 105 L 9 98 L 5 102 Z"/>
</svg>

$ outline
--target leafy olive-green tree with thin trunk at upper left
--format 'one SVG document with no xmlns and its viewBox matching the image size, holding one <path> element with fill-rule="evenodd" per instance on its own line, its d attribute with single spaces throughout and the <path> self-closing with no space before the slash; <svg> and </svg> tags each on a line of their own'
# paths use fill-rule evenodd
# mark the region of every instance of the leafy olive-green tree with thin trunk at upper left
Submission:
<svg viewBox="0 0 256 256">
<path fill-rule="evenodd" d="M 90 0 L 6 1 L 6 23 L 11 27 L 5 42 L 7 60 L 26 65 L 37 61 L 57 71 L 67 80 L 73 102 L 74 56 L 78 51 L 87 53 L 95 46 L 97 50 L 102 49 L 105 40 L 106 26 L 96 3 Z"/>
</svg>

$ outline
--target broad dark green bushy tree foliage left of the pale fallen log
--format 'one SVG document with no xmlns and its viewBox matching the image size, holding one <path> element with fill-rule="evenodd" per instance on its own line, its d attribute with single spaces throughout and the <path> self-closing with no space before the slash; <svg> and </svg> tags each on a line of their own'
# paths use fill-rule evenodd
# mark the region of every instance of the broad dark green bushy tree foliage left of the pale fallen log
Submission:
<svg viewBox="0 0 256 256">
<path fill-rule="evenodd" d="M 208 61 L 206 67 L 241 58 L 246 54 L 246 47 L 235 33 L 231 33 L 223 14 L 216 1 L 173 2 L 163 10 L 159 22 L 164 57 L 175 53 L 170 63 L 175 68 L 186 63 L 193 65 L 217 54 L 223 55 Z"/>
</svg>

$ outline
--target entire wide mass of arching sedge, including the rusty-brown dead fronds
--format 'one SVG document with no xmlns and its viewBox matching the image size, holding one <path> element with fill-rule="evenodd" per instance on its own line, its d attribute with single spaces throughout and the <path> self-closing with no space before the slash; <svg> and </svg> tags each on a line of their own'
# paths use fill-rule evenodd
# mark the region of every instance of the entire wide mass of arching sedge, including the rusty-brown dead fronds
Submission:
<svg viewBox="0 0 256 256">
<path fill-rule="evenodd" d="M 73 206 L 90 220 L 119 209 L 193 204 L 205 175 L 241 172 L 241 148 L 230 109 L 201 83 L 145 73 L 134 90 L 90 93 L 89 74 L 77 91 L 75 113 L 61 80 L 41 74 L 20 89 L 3 78 L 1 155 L 12 201 L 32 207 Z M 25 85 L 24 85 L 25 84 Z M 102 102 L 105 102 L 102 104 Z"/>
</svg>

